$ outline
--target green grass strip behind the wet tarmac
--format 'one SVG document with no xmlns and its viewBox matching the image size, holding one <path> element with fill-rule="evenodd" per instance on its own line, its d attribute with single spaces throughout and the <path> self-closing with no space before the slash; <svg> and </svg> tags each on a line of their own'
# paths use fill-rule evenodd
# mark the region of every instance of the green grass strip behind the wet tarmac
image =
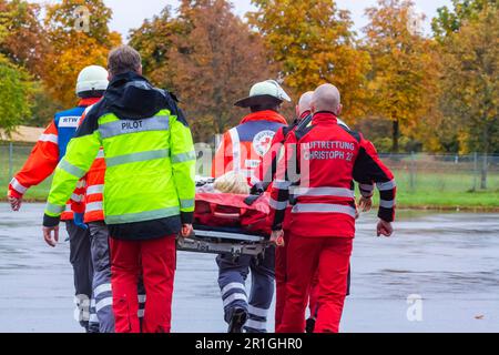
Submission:
<svg viewBox="0 0 499 355">
<path fill-rule="evenodd" d="M 13 172 L 21 169 L 30 151 L 30 146 L 14 148 Z M 499 172 L 497 171 L 490 172 L 487 191 L 473 191 L 473 185 L 478 185 L 478 178 L 472 172 L 454 169 L 454 165 L 445 165 L 438 172 L 418 170 L 414 174 L 410 174 L 406 168 L 398 170 L 397 168 L 394 173 L 397 180 L 399 207 L 499 211 Z M 202 171 L 198 170 L 198 173 Z M 9 151 L 7 146 L 0 145 L 0 186 L 6 193 L 9 181 Z M 30 189 L 26 199 L 44 201 L 50 183 L 51 179 L 48 179 L 39 186 Z M 4 195 L 2 193 L 1 197 Z M 376 194 L 375 202 L 377 200 Z"/>
</svg>

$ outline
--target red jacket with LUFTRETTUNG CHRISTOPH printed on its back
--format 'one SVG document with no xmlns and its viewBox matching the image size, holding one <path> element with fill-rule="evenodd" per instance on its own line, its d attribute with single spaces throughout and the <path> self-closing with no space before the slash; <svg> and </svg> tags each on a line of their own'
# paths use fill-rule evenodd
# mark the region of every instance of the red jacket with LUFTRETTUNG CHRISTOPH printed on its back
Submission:
<svg viewBox="0 0 499 355">
<path fill-rule="evenodd" d="M 291 202 L 289 227 L 294 234 L 354 237 L 354 180 L 364 185 L 377 183 L 378 216 L 394 221 L 393 173 L 379 160 L 374 145 L 360 133 L 338 125 L 333 113 L 316 113 L 310 126 L 289 133 L 284 150 L 271 194 L 273 230 L 283 227 Z"/>
</svg>

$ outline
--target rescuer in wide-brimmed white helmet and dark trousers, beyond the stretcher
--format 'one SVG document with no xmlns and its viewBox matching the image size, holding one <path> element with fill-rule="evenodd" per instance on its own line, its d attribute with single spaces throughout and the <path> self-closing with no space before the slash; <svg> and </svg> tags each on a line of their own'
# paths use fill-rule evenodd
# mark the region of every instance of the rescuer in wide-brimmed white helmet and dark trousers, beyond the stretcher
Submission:
<svg viewBox="0 0 499 355">
<path fill-rule="evenodd" d="M 291 101 L 281 85 L 267 80 L 253 85 L 249 97 L 236 102 L 237 106 L 251 109 L 240 125 L 225 133 L 213 162 L 213 176 L 230 171 L 247 178 L 249 185 L 258 182 L 256 170 L 271 149 L 275 132 L 287 125 L 278 113 L 284 101 Z M 244 329 L 265 333 L 267 314 L 274 296 L 274 248 L 266 251 L 261 261 L 243 255 L 217 257 L 218 285 L 222 292 L 225 321 L 230 333 Z M 252 293 L 246 294 L 246 277 L 252 272 Z"/>
</svg>

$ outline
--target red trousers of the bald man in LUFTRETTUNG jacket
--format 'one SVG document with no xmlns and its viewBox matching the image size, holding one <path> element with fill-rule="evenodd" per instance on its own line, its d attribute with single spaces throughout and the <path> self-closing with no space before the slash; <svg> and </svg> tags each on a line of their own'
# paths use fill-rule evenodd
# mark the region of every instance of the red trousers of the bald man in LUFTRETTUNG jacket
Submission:
<svg viewBox="0 0 499 355">
<path fill-rule="evenodd" d="M 347 293 L 353 239 L 292 234 L 287 246 L 286 304 L 277 333 L 303 333 L 310 283 L 317 273 L 315 333 L 337 333 Z"/>
</svg>

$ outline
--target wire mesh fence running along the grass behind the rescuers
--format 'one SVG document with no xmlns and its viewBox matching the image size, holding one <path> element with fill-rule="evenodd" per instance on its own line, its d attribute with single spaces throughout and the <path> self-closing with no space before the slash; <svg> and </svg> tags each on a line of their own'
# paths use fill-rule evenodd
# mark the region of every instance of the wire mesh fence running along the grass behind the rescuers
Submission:
<svg viewBox="0 0 499 355">
<path fill-rule="evenodd" d="M 208 148 L 208 144 L 196 144 Z M 29 156 L 32 144 L 0 142 L 0 185 L 7 185 Z M 203 154 L 200 154 L 202 156 Z M 200 158 L 198 174 L 211 171 L 211 158 Z M 477 192 L 482 199 L 498 199 L 499 206 L 499 155 L 482 154 L 380 154 L 397 180 L 399 193 L 407 199 L 421 195 L 438 195 Z M 203 164 L 202 164 L 203 163 Z M 30 189 L 28 197 L 43 199 L 50 189 L 50 179 L 40 186 Z M 490 205 L 490 202 L 489 202 Z"/>
</svg>

